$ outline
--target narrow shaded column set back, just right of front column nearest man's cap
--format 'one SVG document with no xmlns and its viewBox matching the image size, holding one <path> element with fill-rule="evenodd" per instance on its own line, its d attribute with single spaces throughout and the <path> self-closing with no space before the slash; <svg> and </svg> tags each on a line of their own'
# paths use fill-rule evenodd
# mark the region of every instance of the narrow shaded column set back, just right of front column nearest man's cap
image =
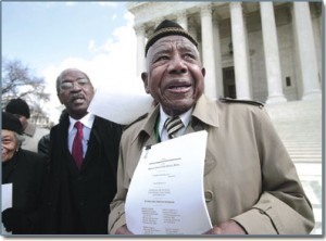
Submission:
<svg viewBox="0 0 326 241">
<path fill-rule="evenodd" d="M 221 53 L 221 39 L 220 39 L 220 26 L 217 16 L 213 20 L 213 39 L 214 39 L 214 58 L 215 58 L 215 76 L 217 86 L 217 97 L 224 96 L 223 87 L 223 73 L 222 73 L 222 53 Z"/>
</svg>

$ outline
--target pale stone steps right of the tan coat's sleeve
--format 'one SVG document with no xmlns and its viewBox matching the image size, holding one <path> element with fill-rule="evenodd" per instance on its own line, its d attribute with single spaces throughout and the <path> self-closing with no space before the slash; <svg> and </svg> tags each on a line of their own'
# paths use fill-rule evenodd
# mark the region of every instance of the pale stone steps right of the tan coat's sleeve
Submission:
<svg viewBox="0 0 326 241">
<path fill-rule="evenodd" d="M 322 101 L 292 101 L 265 106 L 314 208 L 316 224 L 312 234 L 322 233 Z"/>
</svg>

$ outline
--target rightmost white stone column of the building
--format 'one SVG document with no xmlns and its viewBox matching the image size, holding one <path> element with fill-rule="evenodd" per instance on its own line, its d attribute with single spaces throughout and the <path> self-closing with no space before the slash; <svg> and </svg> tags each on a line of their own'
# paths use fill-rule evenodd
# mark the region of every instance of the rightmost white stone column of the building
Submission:
<svg viewBox="0 0 326 241">
<path fill-rule="evenodd" d="M 303 84 L 302 100 L 322 98 L 309 2 L 293 2 L 296 33 Z"/>
</svg>

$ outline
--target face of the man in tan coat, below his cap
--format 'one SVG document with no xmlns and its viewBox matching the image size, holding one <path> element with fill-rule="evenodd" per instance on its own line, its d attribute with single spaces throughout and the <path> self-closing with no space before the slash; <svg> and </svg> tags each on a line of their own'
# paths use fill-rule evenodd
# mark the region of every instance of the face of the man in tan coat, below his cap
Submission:
<svg viewBox="0 0 326 241">
<path fill-rule="evenodd" d="M 145 89 L 168 115 L 191 109 L 203 92 L 205 71 L 196 46 L 183 36 L 159 39 L 148 52 Z"/>
</svg>

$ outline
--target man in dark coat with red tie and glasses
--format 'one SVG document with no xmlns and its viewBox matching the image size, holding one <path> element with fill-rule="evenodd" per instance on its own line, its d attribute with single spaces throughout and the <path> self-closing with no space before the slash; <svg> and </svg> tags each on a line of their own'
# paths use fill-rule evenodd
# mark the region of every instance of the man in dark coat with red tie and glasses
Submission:
<svg viewBox="0 0 326 241">
<path fill-rule="evenodd" d="M 122 126 L 87 112 L 95 90 L 82 71 L 68 68 L 57 79 L 58 97 L 66 107 L 50 131 L 50 175 L 47 221 L 50 234 L 108 234 L 110 203 L 116 193 Z M 83 124 L 83 162 L 73 157 Z"/>
</svg>

